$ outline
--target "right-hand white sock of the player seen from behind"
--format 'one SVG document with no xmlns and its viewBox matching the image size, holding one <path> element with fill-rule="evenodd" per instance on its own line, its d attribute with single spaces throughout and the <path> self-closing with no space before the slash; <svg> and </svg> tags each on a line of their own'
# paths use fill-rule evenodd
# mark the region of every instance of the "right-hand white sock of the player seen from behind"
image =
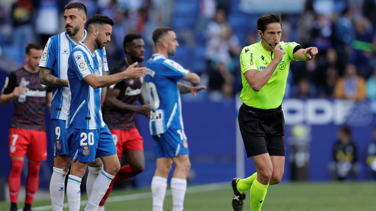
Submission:
<svg viewBox="0 0 376 211">
<path fill-rule="evenodd" d="M 171 193 L 172 193 L 172 211 L 182 211 L 184 209 L 184 196 L 187 190 L 187 180 L 172 178 L 171 179 Z"/>
</svg>

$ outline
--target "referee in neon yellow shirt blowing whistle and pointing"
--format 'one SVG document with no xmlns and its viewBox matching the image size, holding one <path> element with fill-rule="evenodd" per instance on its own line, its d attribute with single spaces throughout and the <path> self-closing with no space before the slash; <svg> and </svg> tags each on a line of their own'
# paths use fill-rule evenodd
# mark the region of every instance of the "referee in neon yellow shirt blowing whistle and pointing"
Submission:
<svg viewBox="0 0 376 211">
<path fill-rule="evenodd" d="M 262 15 L 257 29 L 261 41 L 244 47 L 240 54 L 243 104 L 238 117 L 247 157 L 252 157 L 256 172 L 245 179 L 232 179 L 235 211 L 243 210 L 248 189 L 251 210 L 261 210 L 268 186 L 281 181 L 285 165 L 285 120 L 281 104 L 290 61 L 311 60 L 318 53 L 316 47 L 303 49 L 296 42 L 280 41 L 279 13 Z"/>
</svg>

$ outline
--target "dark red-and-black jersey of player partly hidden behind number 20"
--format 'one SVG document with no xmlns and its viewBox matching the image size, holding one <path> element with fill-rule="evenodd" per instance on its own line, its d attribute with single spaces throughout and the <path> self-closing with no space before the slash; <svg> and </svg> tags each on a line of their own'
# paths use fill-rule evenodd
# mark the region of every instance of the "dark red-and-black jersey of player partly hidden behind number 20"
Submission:
<svg viewBox="0 0 376 211">
<path fill-rule="evenodd" d="M 110 71 L 111 74 L 115 74 L 127 69 L 129 64 L 126 59 L 121 61 L 114 69 Z M 143 63 L 139 63 L 138 67 L 145 66 Z M 109 89 L 120 89 L 120 93 L 117 99 L 120 101 L 136 105 L 141 94 L 142 78 L 129 78 L 114 84 Z M 136 113 L 126 112 L 124 110 L 110 108 L 105 104 L 102 107 L 103 121 L 108 125 L 110 129 L 118 130 L 130 130 L 136 128 Z"/>
</svg>

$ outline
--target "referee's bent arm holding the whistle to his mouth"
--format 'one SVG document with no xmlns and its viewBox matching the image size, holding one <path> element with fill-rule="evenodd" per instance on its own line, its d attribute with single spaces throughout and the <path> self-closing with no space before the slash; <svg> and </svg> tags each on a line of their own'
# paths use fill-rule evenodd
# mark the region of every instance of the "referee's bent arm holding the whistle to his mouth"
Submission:
<svg viewBox="0 0 376 211">
<path fill-rule="evenodd" d="M 265 84 L 270 79 L 271 75 L 273 75 L 274 70 L 276 69 L 278 63 L 282 59 L 283 55 L 285 54 L 285 50 L 280 48 L 281 46 L 277 44 L 274 47 L 274 58 L 271 61 L 271 63 L 263 70 L 258 72 L 256 65 L 249 65 L 250 63 L 253 63 L 249 61 L 249 56 L 241 56 L 240 63 L 241 65 L 249 65 L 250 69 L 244 72 L 244 76 L 246 77 L 249 85 L 252 87 L 253 90 L 258 92 L 261 90 L 262 87 L 265 86 Z M 244 48 L 245 49 L 245 48 Z M 245 49 L 242 53 L 245 55 L 247 54 L 247 49 Z M 255 68 L 255 69 L 252 69 Z"/>
</svg>

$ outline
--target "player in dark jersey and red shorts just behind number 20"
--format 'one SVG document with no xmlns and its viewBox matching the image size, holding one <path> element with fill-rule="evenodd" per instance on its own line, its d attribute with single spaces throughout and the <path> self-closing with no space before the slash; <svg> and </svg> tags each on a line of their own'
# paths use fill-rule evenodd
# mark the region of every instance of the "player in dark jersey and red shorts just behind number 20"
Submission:
<svg viewBox="0 0 376 211">
<path fill-rule="evenodd" d="M 145 66 L 141 63 L 144 60 L 145 52 L 145 42 L 141 35 L 128 34 L 124 38 L 123 47 L 127 57 L 112 69 L 110 74 L 124 71 L 129 64 L 134 62 L 138 62 L 138 66 Z M 136 128 L 136 113 L 145 115 L 147 118 L 150 116 L 150 105 L 146 104 L 141 94 L 142 82 L 143 78 L 125 79 L 110 86 L 107 90 L 102 107 L 103 120 L 114 138 L 120 163 L 123 153 L 125 153 L 129 164 L 122 166 L 112 180 L 105 196 L 99 203 L 98 211 L 105 210 L 104 205 L 115 182 L 135 176 L 145 168 L 143 138 Z M 137 101 L 141 106 L 136 105 Z"/>
</svg>

